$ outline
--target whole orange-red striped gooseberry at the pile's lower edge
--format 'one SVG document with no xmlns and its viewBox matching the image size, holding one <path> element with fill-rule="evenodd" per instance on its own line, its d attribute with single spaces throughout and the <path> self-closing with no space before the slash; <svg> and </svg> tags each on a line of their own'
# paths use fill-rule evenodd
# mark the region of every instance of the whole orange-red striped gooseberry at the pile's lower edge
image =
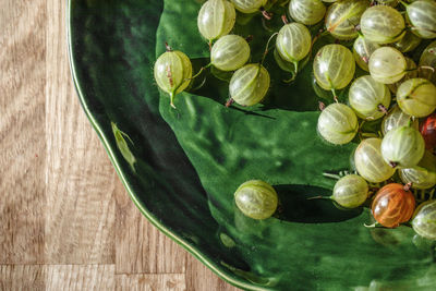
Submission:
<svg viewBox="0 0 436 291">
<path fill-rule="evenodd" d="M 371 209 L 378 223 L 396 228 L 412 217 L 415 198 L 407 186 L 390 183 L 376 193 Z"/>
</svg>

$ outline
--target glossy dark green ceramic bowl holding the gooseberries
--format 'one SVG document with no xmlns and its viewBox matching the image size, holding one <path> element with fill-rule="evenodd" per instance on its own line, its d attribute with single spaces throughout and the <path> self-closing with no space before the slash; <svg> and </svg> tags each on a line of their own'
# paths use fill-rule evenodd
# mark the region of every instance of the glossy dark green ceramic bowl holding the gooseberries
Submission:
<svg viewBox="0 0 436 291">
<path fill-rule="evenodd" d="M 208 47 L 196 28 L 199 7 L 198 0 L 69 1 L 78 96 L 141 211 L 242 289 L 435 287 L 434 247 L 411 228 L 368 230 L 367 209 L 307 201 L 330 195 L 335 182 L 323 172 L 347 169 L 355 147 L 317 136 L 311 65 L 288 85 L 271 52 L 265 61 L 269 97 L 254 108 L 226 108 L 228 85 L 219 78 L 228 75 L 208 71 L 177 96 L 177 110 L 170 108 L 153 64 L 165 41 L 192 58 L 195 71 L 207 63 Z M 238 21 L 234 33 L 255 36 L 256 62 L 271 32 L 258 15 Z M 194 88 L 204 77 L 206 85 Z M 275 217 L 256 221 L 235 208 L 234 191 L 252 179 L 275 186 L 281 204 Z"/>
</svg>

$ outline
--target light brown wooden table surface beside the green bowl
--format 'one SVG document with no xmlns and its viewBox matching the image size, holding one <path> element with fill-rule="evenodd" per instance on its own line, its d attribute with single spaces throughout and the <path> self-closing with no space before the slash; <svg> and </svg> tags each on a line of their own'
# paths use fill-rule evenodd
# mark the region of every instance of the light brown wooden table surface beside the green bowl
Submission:
<svg viewBox="0 0 436 291">
<path fill-rule="evenodd" d="M 144 219 L 80 107 L 65 0 L 0 0 L 0 290 L 237 290 Z"/>
</svg>

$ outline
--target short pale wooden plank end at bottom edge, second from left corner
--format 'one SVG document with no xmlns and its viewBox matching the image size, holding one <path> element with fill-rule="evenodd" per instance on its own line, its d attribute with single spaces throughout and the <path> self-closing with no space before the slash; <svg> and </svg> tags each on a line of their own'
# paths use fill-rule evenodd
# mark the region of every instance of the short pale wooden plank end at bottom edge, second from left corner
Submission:
<svg viewBox="0 0 436 291">
<path fill-rule="evenodd" d="M 48 265 L 46 290 L 114 290 L 114 269 L 113 265 Z"/>
</svg>

